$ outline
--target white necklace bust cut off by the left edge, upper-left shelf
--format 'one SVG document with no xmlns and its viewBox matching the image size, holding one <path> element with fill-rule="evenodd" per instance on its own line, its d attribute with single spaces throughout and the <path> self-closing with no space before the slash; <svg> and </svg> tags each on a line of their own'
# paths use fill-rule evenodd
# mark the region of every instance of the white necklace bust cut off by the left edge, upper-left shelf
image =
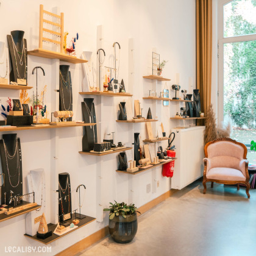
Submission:
<svg viewBox="0 0 256 256">
<path fill-rule="evenodd" d="M 9 82 L 9 52 L 4 42 L 0 42 L 0 84 L 8 85 Z"/>
</svg>

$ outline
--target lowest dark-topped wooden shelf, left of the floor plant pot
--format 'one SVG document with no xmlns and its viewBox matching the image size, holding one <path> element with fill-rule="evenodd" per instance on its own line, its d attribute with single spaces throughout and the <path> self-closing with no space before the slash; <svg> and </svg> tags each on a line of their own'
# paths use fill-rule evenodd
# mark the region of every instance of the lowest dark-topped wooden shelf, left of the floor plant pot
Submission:
<svg viewBox="0 0 256 256">
<path fill-rule="evenodd" d="M 78 216 L 78 215 L 79 214 L 77 213 L 76 216 Z M 67 222 L 71 224 L 73 219 L 74 219 L 74 214 L 72 215 L 72 219 L 69 219 Z M 41 239 L 41 238 L 38 238 L 37 235 L 30 236 L 30 235 L 27 235 L 27 234 L 24 234 L 24 236 L 26 236 L 28 238 L 31 238 L 35 241 L 38 241 L 42 244 L 50 244 L 53 241 L 58 240 L 58 239 L 62 238 L 63 236 L 68 235 L 69 233 L 72 233 L 72 232 L 76 231 L 77 229 L 80 229 L 80 227 L 84 227 L 85 225 L 95 221 L 95 219 L 96 218 L 93 218 L 93 217 L 90 217 L 90 216 L 86 216 L 84 219 L 79 219 L 79 224 L 76 224 L 76 226 L 78 226 L 78 227 L 76 229 L 73 229 L 73 230 L 63 234 L 63 235 L 55 235 L 53 232 L 54 232 L 55 228 L 57 227 L 57 224 L 49 223 L 48 224 L 48 230 L 52 231 L 52 235 L 49 236 L 48 238 Z"/>
</svg>

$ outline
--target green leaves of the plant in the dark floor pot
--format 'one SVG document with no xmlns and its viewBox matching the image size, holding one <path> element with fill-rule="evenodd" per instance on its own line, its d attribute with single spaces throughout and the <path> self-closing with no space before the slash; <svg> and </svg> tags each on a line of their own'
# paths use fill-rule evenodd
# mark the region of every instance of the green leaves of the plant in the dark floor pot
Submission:
<svg viewBox="0 0 256 256">
<path fill-rule="evenodd" d="M 112 202 L 110 202 L 109 208 L 105 208 L 104 211 L 110 212 L 109 219 L 113 219 L 115 216 L 123 216 L 124 218 L 126 218 L 127 215 L 140 213 L 137 211 L 137 207 L 135 207 L 134 204 L 127 205 L 124 202 L 118 203 L 116 201 L 115 201 L 115 204 L 112 204 Z"/>
</svg>

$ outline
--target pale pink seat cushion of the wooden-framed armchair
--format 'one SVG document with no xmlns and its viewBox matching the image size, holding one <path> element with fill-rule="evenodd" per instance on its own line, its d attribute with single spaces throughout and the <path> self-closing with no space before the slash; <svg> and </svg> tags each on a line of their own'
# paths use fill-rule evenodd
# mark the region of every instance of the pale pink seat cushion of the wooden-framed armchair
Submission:
<svg viewBox="0 0 256 256">
<path fill-rule="evenodd" d="M 207 179 L 213 180 L 246 180 L 243 173 L 233 168 L 216 167 L 210 169 L 206 174 Z"/>
</svg>

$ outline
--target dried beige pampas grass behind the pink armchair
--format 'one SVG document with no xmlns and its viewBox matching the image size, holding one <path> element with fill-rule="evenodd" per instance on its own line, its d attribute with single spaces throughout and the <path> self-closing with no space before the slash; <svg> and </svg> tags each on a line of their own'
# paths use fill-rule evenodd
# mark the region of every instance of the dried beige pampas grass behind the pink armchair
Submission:
<svg viewBox="0 0 256 256">
<path fill-rule="evenodd" d="M 217 127 L 213 105 L 209 105 L 206 110 L 204 143 L 216 140 L 217 138 L 230 138 L 232 132 L 232 123 L 227 121 Z"/>
</svg>

